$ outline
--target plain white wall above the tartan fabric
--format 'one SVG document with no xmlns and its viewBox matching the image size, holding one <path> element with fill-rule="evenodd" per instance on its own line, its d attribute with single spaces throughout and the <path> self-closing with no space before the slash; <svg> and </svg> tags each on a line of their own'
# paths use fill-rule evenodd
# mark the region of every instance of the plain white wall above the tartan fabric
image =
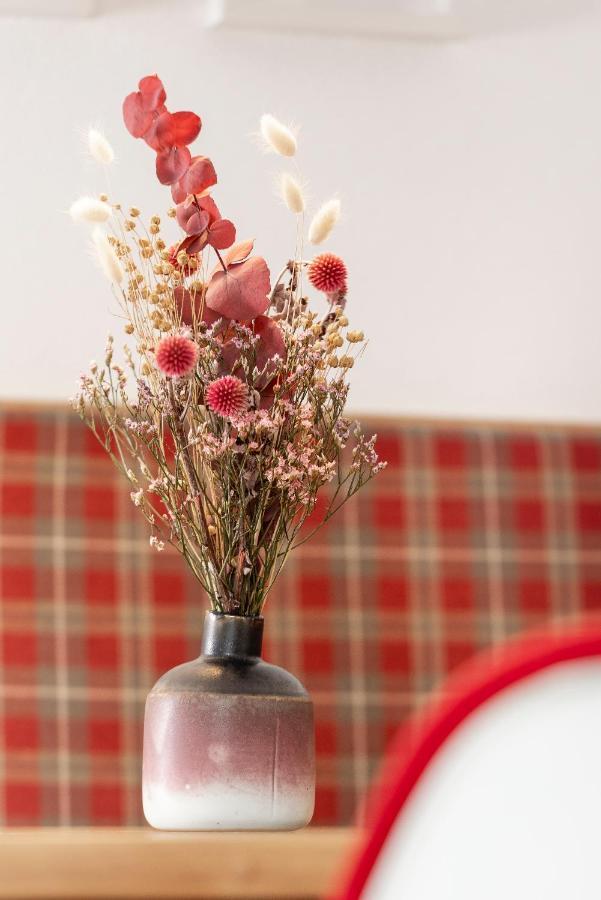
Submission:
<svg viewBox="0 0 601 900">
<path fill-rule="evenodd" d="M 158 71 L 203 118 L 215 197 L 273 270 L 293 246 L 266 110 L 302 123 L 316 201 L 339 191 L 330 248 L 369 333 L 359 410 L 601 422 L 601 12 L 447 44 L 204 32 L 192 12 L 0 19 L 0 393 L 67 397 L 120 330 L 84 233 L 63 213 L 102 188 L 78 129 L 119 154 L 112 196 L 167 207 L 120 106 Z"/>
</svg>

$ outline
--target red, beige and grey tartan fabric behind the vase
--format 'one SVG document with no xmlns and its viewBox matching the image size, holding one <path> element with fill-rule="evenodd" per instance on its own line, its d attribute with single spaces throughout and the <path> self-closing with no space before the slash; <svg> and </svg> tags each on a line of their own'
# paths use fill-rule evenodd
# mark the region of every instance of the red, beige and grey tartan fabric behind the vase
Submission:
<svg viewBox="0 0 601 900">
<path fill-rule="evenodd" d="M 388 469 L 267 606 L 267 658 L 315 700 L 316 824 L 352 821 L 397 725 L 477 648 L 601 611 L 601 436 L 379 431 Z M 144 697 L 197 655 L 204 599 L 75 415 L 8 408 L 0 449 L 0 824 L 138 824 Z"/>
</svg>

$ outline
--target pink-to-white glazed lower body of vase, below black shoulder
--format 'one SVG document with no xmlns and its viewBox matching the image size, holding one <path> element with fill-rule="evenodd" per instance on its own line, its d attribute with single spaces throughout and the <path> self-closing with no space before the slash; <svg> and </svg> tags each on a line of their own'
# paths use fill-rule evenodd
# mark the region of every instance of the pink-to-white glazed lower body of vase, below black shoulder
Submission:
<svg viewBox="0 0 601 900">
<path fill-rule="evenodd" d="M 314 770 L 308 697 L 148 696 L 143 803 L 155 828 L 302 828 L 313 815 Z"/>
</svg>

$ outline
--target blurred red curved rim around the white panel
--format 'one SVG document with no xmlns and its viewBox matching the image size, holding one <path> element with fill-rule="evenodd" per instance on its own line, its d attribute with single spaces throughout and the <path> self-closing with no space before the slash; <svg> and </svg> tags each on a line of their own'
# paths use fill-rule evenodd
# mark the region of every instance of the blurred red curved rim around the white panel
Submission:
<svg viewBox="0 0 601 900">
<path fill-rule="evenodd" d="M 392 742 L 372 790 L 368 832 L 350 862 L 342 886 L 331 900 L 360 900 L 371 870 L 426 766 L 455 729 L 500 691 L 556 663 L 601 656 L 601 620 L 562 632 L 546 631 L 493 647 L 460 666 L 442 686 L 448 696 L 435 700 L 403 725 Z M 425 717 L 425 721 L 423 718 Z"/>
</svg>

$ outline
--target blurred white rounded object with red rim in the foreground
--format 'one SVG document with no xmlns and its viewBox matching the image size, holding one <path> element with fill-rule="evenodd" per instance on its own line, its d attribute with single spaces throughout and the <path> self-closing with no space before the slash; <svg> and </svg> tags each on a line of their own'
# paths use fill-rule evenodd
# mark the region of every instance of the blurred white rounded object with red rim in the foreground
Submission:
<svg viewBox="0 0 601 900">
<path fill-rule="evenodd" d="M 393 741 L 332 900 L 601 896 L 600 751 L 599 618 L 475 657 Z"/>
</svg>

